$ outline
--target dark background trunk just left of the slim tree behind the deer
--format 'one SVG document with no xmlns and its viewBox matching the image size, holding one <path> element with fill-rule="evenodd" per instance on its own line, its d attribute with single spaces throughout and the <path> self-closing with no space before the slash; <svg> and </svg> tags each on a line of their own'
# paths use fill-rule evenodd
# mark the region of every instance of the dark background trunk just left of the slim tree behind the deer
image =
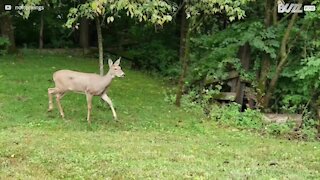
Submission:
<svg viewBox="0 0 320 180">
<path fill-rule="evenodd" d="M 83 48 L 83 53 L 89 52 L 89 20 L 82 18 L 80 22 L 80 46 Z"/>
</svg>

